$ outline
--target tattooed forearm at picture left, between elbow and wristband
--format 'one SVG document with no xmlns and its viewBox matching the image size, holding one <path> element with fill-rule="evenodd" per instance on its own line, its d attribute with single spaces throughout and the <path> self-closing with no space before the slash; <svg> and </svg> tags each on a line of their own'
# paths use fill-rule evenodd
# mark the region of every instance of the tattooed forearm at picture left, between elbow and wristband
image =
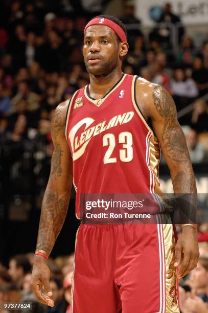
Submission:
<svg viewBox="0 0 208 313">
<path fill-rule="evenodd" d="M 68 196 L 59 198 L 57 194 L 50 191 L 45 192 L 40 216 L 37 249 L 50 254 L 65 220 L 67 206 Z"/>
</svg>

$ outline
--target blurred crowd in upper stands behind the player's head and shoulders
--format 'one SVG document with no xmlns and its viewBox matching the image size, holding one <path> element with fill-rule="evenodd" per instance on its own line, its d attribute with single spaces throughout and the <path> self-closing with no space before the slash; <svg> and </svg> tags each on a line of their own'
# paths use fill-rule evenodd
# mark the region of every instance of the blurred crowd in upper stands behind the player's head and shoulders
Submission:
<svg viewBox="0 0 208 313">
<path fill-rule="evenodd" d="M 16 161 L 34 145 L 51 157 L 54 109 L 89 82 L 82 58 L 82 32 L 88 17 L 58 16 L 48 12 L 40 0 L 5 3 L 0 27 L 2 158 L 8 160 L 9 154 Z M 159 21 L 169 18 L 174 23 L 178 20 L 174 16 L 166 5 Z M 199 98 L 208 93 L 208 37 L 196 48 L 183 28 L 179 50 L 173 53 L 167 50 L 168 36 L 161 38 L 156 27 L 149 40 L 144 37 L 132 5 L 125 7 L 121 20 L 138 25 L 138 29 L 128 30 L 130 50 L 123 71 L 167 88 L 178 111 L 194 102 L 193 110 L 179 121 L 188 126 L 186 138 L 193 163 L 207 160 L 207 102 Z"/>
</svg>

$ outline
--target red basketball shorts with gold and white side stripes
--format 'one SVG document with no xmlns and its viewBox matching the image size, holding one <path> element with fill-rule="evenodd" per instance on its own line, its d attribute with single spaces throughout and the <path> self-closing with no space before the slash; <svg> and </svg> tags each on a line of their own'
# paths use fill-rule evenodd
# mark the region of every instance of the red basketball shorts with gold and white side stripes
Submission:
<svg viewBox="0 0 208 313">
<path fill-rule="evenodd" d="M 172 225 L 81 225 L 71 313 L 179 312 Z"/>
</svg>

